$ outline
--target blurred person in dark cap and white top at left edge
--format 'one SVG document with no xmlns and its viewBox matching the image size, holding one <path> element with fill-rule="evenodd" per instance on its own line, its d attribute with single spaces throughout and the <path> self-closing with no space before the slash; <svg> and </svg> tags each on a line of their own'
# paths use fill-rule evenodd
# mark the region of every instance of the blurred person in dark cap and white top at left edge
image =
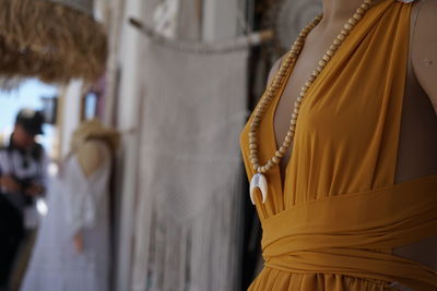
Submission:
<svg viewBox="0 0 437 291">
<path fill-rule="evenodd" d="M 39 111 L 22 109 L 0 148 L 0 288 L 7 288 L 19 250 L 32 243 L 35 198 L 46 187 L 47 156 L 35 137 L 43 134 Z"/>
</svg>

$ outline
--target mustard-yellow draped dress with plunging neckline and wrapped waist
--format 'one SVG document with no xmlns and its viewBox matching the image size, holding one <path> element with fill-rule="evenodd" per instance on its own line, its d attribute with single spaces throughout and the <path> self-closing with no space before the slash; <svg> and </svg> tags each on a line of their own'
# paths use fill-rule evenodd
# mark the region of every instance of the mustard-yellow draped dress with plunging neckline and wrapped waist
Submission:
<svg viewBox="0 0 437 291">
<path fill-rule="evenodd" d="M 410 13 L 395 0 L 370 8 L 308 90 L 285 180 L 276 166 L 265 204 L 256 195 L 265 263 L 249 290 L 436 290 L 436 271 L 391 254 L 437 234 L 437 175 L 394 184 Z M 283 89 L 260 123 L 261 163 Z"/>
</svg>

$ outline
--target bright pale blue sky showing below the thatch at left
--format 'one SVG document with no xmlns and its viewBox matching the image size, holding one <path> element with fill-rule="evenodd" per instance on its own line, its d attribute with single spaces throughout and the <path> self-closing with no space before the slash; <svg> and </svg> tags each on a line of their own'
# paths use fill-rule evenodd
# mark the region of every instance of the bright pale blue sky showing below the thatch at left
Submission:
<svg viewBox="0 0 437 291">
<path fill-rule="evenodd" d="M 22 108 L 42 109 L 40 97 L 52 97 L 57 94 L 57 87 L 46 85 L 37 80 L 25 81 L 19 88 L 12 92 L 0 89 L 0 132 L 10 132 L 13 129 L 16 113 Z M 45 134 L 40 136 L 40 143 L 48 151 L 51 149 L 51 140 L 55 129 L 44 125 Z"/>
</svg>

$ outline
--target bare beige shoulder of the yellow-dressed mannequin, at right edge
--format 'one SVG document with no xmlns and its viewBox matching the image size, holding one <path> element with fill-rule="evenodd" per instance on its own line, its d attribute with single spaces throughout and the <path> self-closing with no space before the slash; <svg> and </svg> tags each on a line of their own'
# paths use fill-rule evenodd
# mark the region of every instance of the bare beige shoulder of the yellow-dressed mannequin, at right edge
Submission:
<svg viewBox="0 0 437 291">
<path fill-rule="evenodd" d="M 422 88 L 437 112 L 437 0 L 418 1 L 413 23 L 412 62 Z"/>
</svg>

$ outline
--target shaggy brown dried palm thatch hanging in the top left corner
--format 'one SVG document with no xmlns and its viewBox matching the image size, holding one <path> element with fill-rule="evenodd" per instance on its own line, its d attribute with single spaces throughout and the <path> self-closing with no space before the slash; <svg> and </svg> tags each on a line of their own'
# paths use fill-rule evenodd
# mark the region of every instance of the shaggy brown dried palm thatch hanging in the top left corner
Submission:
<svg viewBox="0 0 437 291">
<path fill-rule="evenodd" d="M 47 83 L 97 80 L 105 70 L 107 37 L 84 13 L 84 2 L 1 0 L 0 75 Z"/>
</svg>

